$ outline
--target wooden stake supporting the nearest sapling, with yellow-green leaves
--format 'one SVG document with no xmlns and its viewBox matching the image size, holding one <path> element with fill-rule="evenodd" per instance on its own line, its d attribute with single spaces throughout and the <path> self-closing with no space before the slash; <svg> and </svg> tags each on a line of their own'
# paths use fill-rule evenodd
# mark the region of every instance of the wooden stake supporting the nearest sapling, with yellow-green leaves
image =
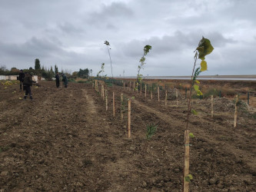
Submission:
<svg viewBox="0 0 256 192">
<path fill-rule="evenodd" d="M 188 192 L 189 182 L 185 181 L 185 177 L 189 174 L 189 131 L 185 131 L 185 156 L 184 156 L 184 177 L 183 192 Z"/>
</svg>

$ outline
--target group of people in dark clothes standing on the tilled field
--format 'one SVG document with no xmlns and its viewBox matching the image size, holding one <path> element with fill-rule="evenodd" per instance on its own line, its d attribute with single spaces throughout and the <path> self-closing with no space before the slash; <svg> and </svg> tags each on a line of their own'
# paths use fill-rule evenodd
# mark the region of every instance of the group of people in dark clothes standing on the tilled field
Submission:
<svg viewBox="0 0 256 192">
<path fill-rule="evenodd" d="M 59 87 L 59 79 L 60 76 L 57 72 L 57 74 L 55 75 L 55 79 L 56 79 L 56 87 Z M 18 80 L 19 80 L 19 88 L 20 91 L 22 91 L 22 85 L 23 85 L 23 91 L 25 91 L 25 95 L 24 95 L 24 100 L 28 98 L 28 94 L 29 94 L 29 98 L 31 100 L 33 100 L 32 98 L 32 91 L 31 91 L 31 86 L 32 84 L 35 82 L 32 80 L 32 74 L 28 73 L 28 72 L 23 72 L 23 70 L 21 69 L 19 71 L 18 74 Z M 65 88 L 68 88 L 68 78 L 66 77 L 66 75 L 64 73 L 62 73 L 62 81 L 65 85 Z"/>
</svg>

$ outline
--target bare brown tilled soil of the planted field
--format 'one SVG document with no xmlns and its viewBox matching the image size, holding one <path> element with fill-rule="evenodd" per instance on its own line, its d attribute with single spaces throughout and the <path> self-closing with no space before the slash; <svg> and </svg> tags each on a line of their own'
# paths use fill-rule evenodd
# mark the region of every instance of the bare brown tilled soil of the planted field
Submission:
<svg viewBox="0 0 256 192">
<path fill-rule="evenodd" d="M 165 105 L 157 95 L 108 88 L 105 101 L 91 84 L 39 81 L 34 101 L 23 101 L 19 84 L 0 87 L 0 191 L 181 191 L 187 100 L 171 92 Z M 13 91 L 16 91 L 13 93 Z M 112 92 L 115 91 L 115 117 Z M 125 113 L 121 120 L 120 95 Z M 135 96 L 134 99 L 132 97 Z M 131 138 L 127 99 L 131 99 Z M 255 191 L 256 119 L 254 108 L 234 101 L 194 100 L 198 115 L 188 129 L 190 191 Z M 158 125 L 146 141 L 148 124 Z"/>
</svg>

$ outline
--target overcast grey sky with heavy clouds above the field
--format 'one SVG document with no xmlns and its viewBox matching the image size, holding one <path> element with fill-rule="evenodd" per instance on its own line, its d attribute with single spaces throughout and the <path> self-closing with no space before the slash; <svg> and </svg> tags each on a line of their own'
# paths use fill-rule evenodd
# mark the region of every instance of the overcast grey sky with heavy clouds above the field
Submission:
<svg viewBox="0 0 256 192">
<path fill-rule="evenodd" d="M 0 65 L 69 72 L 105 63 L 111 76 L 191 75 L 202 36 L 214 51 L 207 74 L 256 74 L 255 0 L 0 0 Z M 200 61 L 198 61 L 199 63 Z"/>
</svg>

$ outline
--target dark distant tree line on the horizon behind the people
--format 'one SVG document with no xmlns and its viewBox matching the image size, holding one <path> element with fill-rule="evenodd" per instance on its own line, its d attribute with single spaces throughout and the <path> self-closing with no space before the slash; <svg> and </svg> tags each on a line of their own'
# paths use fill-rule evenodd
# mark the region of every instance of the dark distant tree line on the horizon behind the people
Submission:
<svg viewBox="0 0 256 192">
<path fill-rule="evenodd" d="M 0 66 L 0 75 L 18 75 L 19 71 L 21 69 L 18 68 L 11 68 L 11 70 L 8 70 L 5 65 Z M 55 65 L 54 70 L 53 68 L 44 68 L 41 67 L 40 61 L 38 58 L 35 59 L 35 68 L 23 68 L 22 69 L 23 72 L 28 72 L 30 74 L 35 74 L 38 75 L 39 77 L 45 78 L 47 80 L 52 80 L 52 78 L 55 77 L 55 74 L 57 72 L 62 72 L 64 73 L 64 71 L 58 71 L 58 66 Z M 92 70 L 88 70 L 88 68 L 85 69 L 79 69 L 79 71 L 74 71 L 72 74 L 65 72 L 66 76 L 68 78 L 89 78 L 90 74 L 92 74 Z"/>
</svg>

